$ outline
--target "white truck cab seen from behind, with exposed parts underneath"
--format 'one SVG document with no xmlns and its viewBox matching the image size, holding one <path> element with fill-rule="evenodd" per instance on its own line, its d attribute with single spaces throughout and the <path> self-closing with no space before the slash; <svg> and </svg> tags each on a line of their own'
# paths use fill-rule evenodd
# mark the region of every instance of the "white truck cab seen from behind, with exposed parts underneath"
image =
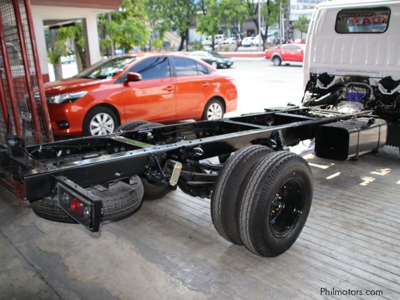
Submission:
<svg viewBox="0 0 400 300">
<path fill-rule="evenodd" d="M 327 1 L 313 12 L 304 53 L 303 106 L 373 110 L 400 139 L 400 1 Z"/>
</svg>

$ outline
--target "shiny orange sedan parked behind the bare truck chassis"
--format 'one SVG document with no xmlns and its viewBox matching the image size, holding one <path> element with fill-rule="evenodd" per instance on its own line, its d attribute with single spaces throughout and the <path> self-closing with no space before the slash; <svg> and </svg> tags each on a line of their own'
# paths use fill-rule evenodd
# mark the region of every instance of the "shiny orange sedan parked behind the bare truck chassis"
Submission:
<svg viewBox="0 0 400 300">
<path fill-rule="evenodd" d="M 185 55 L 140 53 L 100 61 L 44 84 L 55 135 L 101 135 L 134 119 L 212 120 L 236 109 L 234 78 Z"/>
</svg>

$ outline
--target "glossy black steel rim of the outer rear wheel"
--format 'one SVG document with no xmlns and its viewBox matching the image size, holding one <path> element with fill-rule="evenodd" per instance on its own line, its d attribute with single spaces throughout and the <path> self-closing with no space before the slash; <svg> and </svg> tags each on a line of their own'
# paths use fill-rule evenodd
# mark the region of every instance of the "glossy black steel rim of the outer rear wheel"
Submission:
<svg viewBox="0 0 400 300">
<path fill-rule="evenodd" d="M 269 226 L 276 237 L 289 234 L 304 209 L 304 187 L 296 177 L 290 177 L 273 197 L 269 210 Z"/>
</svg>

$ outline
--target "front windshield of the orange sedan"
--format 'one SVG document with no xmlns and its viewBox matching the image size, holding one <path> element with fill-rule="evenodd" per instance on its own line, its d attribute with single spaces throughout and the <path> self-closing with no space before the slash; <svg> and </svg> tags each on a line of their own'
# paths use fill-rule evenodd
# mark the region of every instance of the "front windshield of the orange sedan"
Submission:
<svg viewBox="0 0 400 300">
<path fill-rule="evenodd" d="M 128 64 L 133 62 L 136 57 L 114 57 L 106 60 L 99 61 L 92 66 L 77 73 L 74 77 L 78 78 L 91 78 L 91 79 L 105 79 L 112 77 L 122 71 Z"/>
</svg>

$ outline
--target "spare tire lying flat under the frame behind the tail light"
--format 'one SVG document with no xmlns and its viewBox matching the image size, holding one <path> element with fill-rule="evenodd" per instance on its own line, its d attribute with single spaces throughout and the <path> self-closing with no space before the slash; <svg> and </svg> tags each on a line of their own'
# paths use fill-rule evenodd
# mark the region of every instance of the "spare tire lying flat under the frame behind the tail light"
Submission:
<svg viewBox="0 0 400 300">
<path fill-rule="evenodd" d="M 125 217 L 135 211 L 143 198 L 143 185 L 138 176 L 132 176 L 132 184 L 118 181 L 107 190 L 99 191 L 93 187 L 85 188 L 102 200 L 103 215 L 101 221 Z M 57 196 L 30 201 L 33 212 L 47 220 L 76 223 L 57 204 Z"/>
</svg>

